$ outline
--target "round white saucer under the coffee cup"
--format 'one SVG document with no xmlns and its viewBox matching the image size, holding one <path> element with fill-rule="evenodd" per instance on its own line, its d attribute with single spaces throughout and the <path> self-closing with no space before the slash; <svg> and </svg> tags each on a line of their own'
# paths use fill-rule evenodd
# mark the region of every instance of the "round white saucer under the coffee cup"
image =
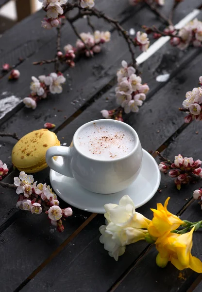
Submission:
<svg viewBox="0 0 202 292">
<path fill-rule="evenodd" d="M 62 164 L 62 157 L 58 157 L 57 162 Z M 50 170 L 51 186 L 61 199 L 78 209 L 101 214 L 105 213 L 104 204 L 118 204 L 124 195 L 131 197 L 136 208 L 146 204 L 156 193 L 160 180 L 157 163 L 144 149 L 142 168 L 137 179 L 127 189 L 116 194 L 103 195 L 87 191 L 75 179 Z"/>
</svg>

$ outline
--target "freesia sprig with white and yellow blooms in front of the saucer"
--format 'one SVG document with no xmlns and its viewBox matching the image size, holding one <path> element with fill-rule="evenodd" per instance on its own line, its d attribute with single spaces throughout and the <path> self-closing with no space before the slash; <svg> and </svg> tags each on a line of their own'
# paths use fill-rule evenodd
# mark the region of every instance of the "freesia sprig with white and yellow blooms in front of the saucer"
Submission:
<svg viewBox="0 0 202 292">
<path fill-rule="evenodd" d="M 151 209 L 152 220 L 136 212 L 134 202 L 127 195 L 121 198 L 119 205 L 106 204 L 106 225 L 100 227 L 100 241 L 109 256 L 118 260 L 126 245 L 146 240 L 155 244 L 159 267 L 166 267 L 170 261 L 178 270 L 190 268 L 202 273 L 202 262 L 191 255 L 193 232 L 202 228 L 202 221 L 189 222 L 170 213 L 167 210 L 169 199 L 164 206 L 158 203 L 157 209 Z"/>
</svg>

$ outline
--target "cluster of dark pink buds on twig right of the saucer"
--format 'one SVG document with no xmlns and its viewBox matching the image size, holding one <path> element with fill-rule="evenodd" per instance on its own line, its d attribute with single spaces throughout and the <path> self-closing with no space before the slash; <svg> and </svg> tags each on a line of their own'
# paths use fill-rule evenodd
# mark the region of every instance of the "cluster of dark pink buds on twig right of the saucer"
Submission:
<svg viewBox="0 0 202 292">
<path fill-rule="evenodd" d="M 175 156 L 174 162 L 170 162 L 167 158 L 156 152 L 160 160 L 159 170 L 167 173 L 171 178 L 175 178 L 174 182 L 178 190 L 181 189 L 182 184 L 189 182 L 196 182 L 202 178 L 202 161 L 200 159 L 194 161 L 192 157 L 183 157 L 181 154 Z"/>
</svg>

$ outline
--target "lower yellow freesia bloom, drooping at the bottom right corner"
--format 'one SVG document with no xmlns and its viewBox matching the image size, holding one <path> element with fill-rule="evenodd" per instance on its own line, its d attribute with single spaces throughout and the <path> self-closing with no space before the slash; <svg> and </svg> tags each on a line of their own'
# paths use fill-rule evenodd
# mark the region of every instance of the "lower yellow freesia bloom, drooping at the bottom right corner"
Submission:
<svg viewBox="0 0 202 292">
<path fill-rule="evenodd" d="M 191 255 L 192 230 L 185 234 L 166 233 L 155 242 L 159 254 L 156 264 L 164 268 L 170 261 L 178 270 L 190 268 L 197 273 L 202 273 L 202 262 L 199 258 Z"/>
</svg>

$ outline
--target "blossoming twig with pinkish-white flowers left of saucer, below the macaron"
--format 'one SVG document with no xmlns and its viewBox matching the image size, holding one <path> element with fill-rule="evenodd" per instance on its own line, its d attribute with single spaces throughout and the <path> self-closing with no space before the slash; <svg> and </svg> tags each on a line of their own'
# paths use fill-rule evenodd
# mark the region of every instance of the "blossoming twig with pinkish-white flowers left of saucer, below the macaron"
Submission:
<svg viewBox="0 0 202 292">
<path fill-rule="evenodd" d="M 8 168 L 0 160 L 0 181 L 2 176 L 7 175 Z M 56 194 L 46 183 L 34 182 L 33 175 L 27 175 L 21 171 L 19 177 L 14 178 L 14 184 L 0 182 L 3 187 L 9 187 L 16 190 L 19 195 L 17 208 L 29 211 L 34 215 L 39 215 L 44 211 L 48 215 L 50 223 L 57 228 L 59 232 L 64 231 L 63 221 L 72 215 L 72 209 L 61 209 Z"/>
</svg>

